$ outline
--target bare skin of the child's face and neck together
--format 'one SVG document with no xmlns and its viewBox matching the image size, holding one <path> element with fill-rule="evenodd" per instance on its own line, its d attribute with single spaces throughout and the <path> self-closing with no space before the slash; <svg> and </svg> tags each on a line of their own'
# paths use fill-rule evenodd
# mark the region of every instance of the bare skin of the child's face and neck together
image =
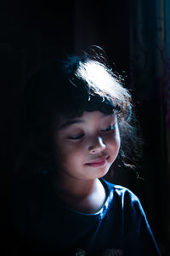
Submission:
<svg viewBox="0 0 170 256">
<path fill-rule="evenodd" d="M 109 171 L 120 147 L 116 116 L 94 111 L 77 119 L 61 117 L 54 142 L 56 195 L 77 212 L 99 212 L 106 198 L 99 177 Z"/>
</svg>

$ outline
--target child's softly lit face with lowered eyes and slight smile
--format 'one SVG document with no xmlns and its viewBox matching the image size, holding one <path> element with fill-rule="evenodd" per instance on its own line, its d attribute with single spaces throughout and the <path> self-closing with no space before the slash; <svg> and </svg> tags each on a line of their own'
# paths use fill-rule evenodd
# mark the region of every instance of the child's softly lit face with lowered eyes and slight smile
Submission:
<svg viewBox="0 0 170 256">
<path fill-rule="evenodd" d="M 61 116 L 54 143 L 61 175 L 81 180 L 103 177 L 120 148 L 116 115 L 94 111 L 75 119 Z"/>
</svg>

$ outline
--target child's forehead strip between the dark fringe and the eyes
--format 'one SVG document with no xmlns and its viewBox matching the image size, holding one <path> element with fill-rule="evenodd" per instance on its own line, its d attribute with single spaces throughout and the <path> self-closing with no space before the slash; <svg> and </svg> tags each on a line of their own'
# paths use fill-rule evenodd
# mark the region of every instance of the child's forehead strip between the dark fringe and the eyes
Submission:
<svg viewBox="0 0 170 256">
<path fill-rule="evenodd" d="M 81 116 L 75 117 L 75 118 L 66 118 L 63 115 L 59 116 L 59 130 L 66 129 L 67 127 L 70 127 L 71 125 L 76 125 L 76 124 L 84 124 L 88 122 L 99 122 L 100 120 L 105 120 L 105 119 L 115 119 L 116 115 L 115 113 L 110 113 L 110 114 L 105 114 L 100 111 L 92 111 L 92 112 L 83 112 Z"/>
</svg>

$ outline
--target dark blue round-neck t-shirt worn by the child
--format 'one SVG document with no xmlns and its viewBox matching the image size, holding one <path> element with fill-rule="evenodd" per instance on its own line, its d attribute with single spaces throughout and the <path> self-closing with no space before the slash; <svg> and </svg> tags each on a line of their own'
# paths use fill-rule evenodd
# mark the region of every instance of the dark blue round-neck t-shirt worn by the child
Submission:
<svg viewBox="0 0 170 256">
<path fill-rule="evenodd" d="M 14 195 L 18 255 L 161 255 L 138 197 L 100 181 L 107 196 L 94 214 L 67 207 L 55 195 L 48 175 L 20 182 Z"/>
</svg>

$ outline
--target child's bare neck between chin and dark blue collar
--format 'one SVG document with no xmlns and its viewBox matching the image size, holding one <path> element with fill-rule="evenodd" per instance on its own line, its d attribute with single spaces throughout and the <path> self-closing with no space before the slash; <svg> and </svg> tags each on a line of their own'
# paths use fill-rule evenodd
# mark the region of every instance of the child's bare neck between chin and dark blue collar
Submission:
<svg viewBox="0 0 170 256">
<path fill-rule="evenodd" d="M 79 180 L 54 175 L 54 191 L 65 203 L 78 212 L 98 212 L 105 203 L 105 189 L 99 179 Z"/>
</svg>

